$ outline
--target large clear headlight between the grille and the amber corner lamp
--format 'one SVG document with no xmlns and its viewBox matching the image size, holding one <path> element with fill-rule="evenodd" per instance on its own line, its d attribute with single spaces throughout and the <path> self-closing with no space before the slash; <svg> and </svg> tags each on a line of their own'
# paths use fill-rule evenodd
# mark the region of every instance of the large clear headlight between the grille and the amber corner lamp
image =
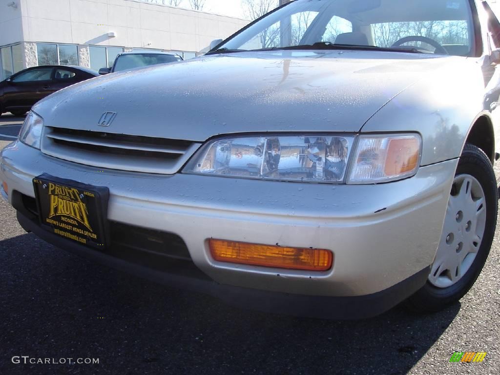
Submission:
<svg viewBox="0 0 500 375">
<path fill-rule="evenodd" d="M 184 172 L 289 181 L 343 182 L 352 136 L 255 136 L 207 143 Z"/>
</svg>

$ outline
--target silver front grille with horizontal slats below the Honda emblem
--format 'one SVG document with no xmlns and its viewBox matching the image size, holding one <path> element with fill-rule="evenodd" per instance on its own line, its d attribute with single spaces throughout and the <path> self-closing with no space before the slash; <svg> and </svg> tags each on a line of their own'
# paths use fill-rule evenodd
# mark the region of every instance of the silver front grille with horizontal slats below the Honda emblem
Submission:
<svg viewBox="0 0 500 375">
<path fill-rule="evenodd" d="M 187 140 L 47 126 L 41 151 L 99 168 L 173 174 L 200 145 Z"/>
</svg>

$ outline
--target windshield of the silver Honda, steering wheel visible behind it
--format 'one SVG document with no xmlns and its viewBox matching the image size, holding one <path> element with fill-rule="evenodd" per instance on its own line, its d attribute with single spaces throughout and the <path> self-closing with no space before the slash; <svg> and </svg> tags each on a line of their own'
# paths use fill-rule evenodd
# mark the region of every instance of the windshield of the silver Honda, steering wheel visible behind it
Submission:
<svg viewBox="0 0 500 375">
<path fill-rule="evenodd" d="M 364 46 L 466 56 L 468 0 L 296 0 L 242 30 L 217 51 Z"/>
</svg>

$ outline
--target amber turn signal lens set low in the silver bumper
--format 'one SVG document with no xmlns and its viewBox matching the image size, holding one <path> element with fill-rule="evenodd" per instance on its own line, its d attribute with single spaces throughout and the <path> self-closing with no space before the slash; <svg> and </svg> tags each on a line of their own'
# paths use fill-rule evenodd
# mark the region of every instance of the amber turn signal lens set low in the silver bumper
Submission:
<svg viewBox="0 0 500 375">
<path fill-rule="evenodd" d="M 210 253 L 217 261 L 263 267 L 327 271 L 333 263 L 329 250 L 259 245 L 221 239 L 209 240 Z"/>
</svg>

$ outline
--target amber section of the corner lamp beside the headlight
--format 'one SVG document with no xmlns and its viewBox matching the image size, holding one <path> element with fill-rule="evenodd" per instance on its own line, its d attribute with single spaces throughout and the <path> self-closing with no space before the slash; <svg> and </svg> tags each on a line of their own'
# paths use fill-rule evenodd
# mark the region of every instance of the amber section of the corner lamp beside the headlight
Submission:
<svg viewBox="0 0 500 375">
<path fill-rule="evenodd" d="M 385 175 L 398 175 L 414 170 L 419 157 L 420 141 L 417 138 L 390 139 L 385 161 Z"/>
</svg>

